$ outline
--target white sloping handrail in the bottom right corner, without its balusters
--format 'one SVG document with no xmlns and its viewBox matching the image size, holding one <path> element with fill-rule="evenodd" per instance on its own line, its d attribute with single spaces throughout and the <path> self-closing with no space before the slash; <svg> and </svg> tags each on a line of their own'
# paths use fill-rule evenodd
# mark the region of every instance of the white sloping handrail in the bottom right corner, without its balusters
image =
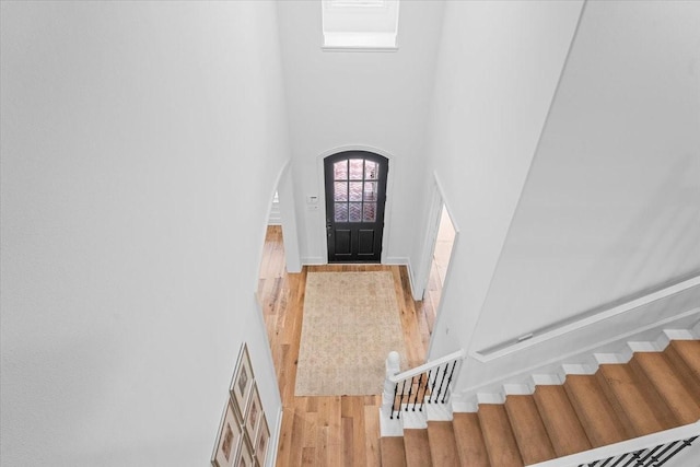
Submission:
<svg viewBox="0 0 700 467">
<path fill-rule="evenodd" d="M 544 463 L 533 464 L 529 467 L 571 467 L 583 464 L 593 463 L 595 460 L 606 459 L 608 457 L 619 456 L 621 454 L 632 453 L 634 451 L 646 450 L 658 446 L 661 444 L 672 443 L 678 440 L 700 435 L 700 421 L 684 427 L 674 428 L 672 430 L 661 431 L 658 433 L 648 434 L 646 436 L 634 437 L 632 440 L 622 441 L 620 443 L 609 444 L 583 453 L 572 454 L 565 457 L 547 460 Z"/>
</svg>

